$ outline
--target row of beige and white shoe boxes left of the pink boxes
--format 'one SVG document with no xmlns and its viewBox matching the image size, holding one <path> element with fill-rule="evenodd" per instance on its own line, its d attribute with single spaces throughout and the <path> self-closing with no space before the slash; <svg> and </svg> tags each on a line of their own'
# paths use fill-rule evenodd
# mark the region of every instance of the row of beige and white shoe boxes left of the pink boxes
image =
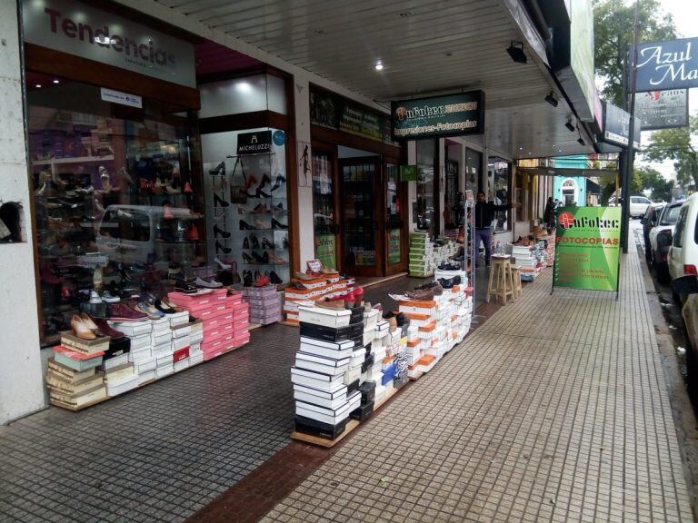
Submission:
<svg viewBox="0 0 698 523">
<path fill-rule="evenodd" d="M 109 325 L 124 337 L 81 340 L 62 333 L 46 371 L 52 405 L 83 410 L 204 361 L 203 321 L 189 321 L 188 312 Z"/>
</svg>

